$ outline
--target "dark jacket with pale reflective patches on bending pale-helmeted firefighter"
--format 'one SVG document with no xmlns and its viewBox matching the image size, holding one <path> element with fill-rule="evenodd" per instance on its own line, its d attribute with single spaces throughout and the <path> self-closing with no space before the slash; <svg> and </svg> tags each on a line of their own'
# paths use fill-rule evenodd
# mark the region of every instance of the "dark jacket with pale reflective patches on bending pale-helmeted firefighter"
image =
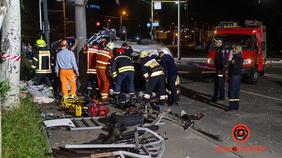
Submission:
<svg viewBox="0 0 282 158">
<path fill-rule="evenodd" d="M 144 78 L 164 75 L 163 67 L 158 64 L 155 55 L 149 54 L 141 61 L 142 75 Z"/>
</svg>

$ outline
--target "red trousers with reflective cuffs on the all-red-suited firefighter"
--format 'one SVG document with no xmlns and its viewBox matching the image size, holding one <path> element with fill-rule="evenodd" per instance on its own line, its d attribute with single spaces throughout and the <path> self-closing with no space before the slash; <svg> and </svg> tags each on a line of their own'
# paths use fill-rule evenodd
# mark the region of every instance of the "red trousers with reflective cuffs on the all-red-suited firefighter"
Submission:
<svg viewBox="0 0 282 158">
<path fill-rule="evenodd" d="M 109 70 L 104 68 L 96 68 L 96 73 L 99 91 L 102 95 L 102 101 L 107 100 L 111 82 Z"/>
</svg>

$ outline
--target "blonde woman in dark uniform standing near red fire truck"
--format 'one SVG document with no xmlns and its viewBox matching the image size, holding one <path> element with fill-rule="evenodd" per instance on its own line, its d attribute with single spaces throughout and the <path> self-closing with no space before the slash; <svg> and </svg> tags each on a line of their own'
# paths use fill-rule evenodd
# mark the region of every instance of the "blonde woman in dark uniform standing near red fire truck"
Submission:
<svg viewBox="0 0 282 158">
<path fill-rule="evenodd" d="M 239 92 L 240 82 L 242 79 L 242 68 L 243 68 L 243 54 L 242 48 L 239 44 L 233 44 L 233 58 L 229 66 L 229 87 L 228 87 L 228 98 L 229 98 L 229 109 L 225 112 L 239 110 Z"/>
</svg>

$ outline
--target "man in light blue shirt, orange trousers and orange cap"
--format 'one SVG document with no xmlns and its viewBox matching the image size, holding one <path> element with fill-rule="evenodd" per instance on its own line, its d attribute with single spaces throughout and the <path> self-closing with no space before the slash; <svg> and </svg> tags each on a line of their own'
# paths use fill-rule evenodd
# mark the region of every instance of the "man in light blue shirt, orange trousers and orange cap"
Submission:
<svg viewBox="0 0 282 158">
<path fill-rule="evenodd" d="M 76 77 L 79 76 L 74 53 L 67 49 L 68 42 L 61 42 L 61 51 L 57 53 L 55 72 L 61 78 L 63 96 L 68 94 L 67 83 L 70 84 L 70 93 L 76 92 Z"/>
</svg>

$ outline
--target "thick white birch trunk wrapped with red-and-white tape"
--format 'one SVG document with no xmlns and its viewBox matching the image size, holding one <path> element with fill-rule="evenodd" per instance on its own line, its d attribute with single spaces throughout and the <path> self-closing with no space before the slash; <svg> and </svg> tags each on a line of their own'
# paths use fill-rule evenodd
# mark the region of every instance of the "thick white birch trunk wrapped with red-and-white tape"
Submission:
<svg viewBox="0 0 282 158">
<path fill-rule="evenodd" d="M 19 0 L 4 0 L 7 3 L 7 15 L 1 27 L 0 52 L 6 55 L 20 56 L 21 49 L 21 14 Z M 20 61 L 6 58 L 0 66 L 0 82 L 9 80 L 12 87 L 7 92 L 7 100 L 2 103 L 3 109 L 10 109 L 19 104 L 19 71 Z"/>
</svg>

